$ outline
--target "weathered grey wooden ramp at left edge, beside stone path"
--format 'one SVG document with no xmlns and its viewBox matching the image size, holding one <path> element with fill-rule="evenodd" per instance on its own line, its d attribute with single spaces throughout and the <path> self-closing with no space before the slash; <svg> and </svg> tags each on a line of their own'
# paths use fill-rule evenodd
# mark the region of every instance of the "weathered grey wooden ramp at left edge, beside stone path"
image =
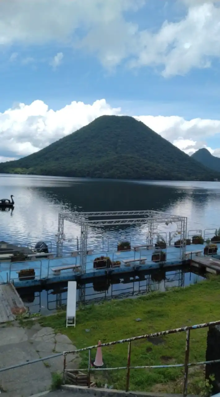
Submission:
<svg viewBox="0 0 220 397">
<path fill-rule="evenodd" d="M 19 294 L 12 284 L 0 284 L 0 324 L 15 320 L 17 314 L 25 313 Z"/>
</svg>

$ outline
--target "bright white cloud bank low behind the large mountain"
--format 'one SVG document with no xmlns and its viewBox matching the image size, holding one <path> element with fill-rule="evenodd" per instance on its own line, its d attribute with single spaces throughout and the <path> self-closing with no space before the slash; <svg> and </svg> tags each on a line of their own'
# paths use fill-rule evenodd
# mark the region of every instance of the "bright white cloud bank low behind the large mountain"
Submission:
<svg viewBox="0 0 220 397">
<path fill-rule="evenodd" d="M 30 105 L 14 105 L 0 113 L 0 161 L 6 161 L 3 157 L 10 160 L 37 152 L 104 114 L 120 115 L 122 112 L 121 108 L 112 108 L 105 99 L 96 100 L 93 104 L 73 101 L 57 111 L 49 109 L 40 100 Z M 220 156 L 220 148 L 213 149 L 208 145 L 209 137 L 219 137 L 220 120 L 185 120 L 179 116 L 134 117 L 188 154 L 207 147 L 212 154 Z"/>
</svg>

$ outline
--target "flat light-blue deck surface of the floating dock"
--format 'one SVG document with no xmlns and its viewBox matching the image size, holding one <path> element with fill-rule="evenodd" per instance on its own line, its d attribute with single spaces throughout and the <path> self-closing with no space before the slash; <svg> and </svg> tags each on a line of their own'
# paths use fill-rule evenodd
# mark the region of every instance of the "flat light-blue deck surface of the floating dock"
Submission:
<svg viewBox="0 0 220 397">
<path fill-rule="evenodd" d="M 50 285 L 70 280 L 80 281 L 86 279 L 97 279 L 108 275 L 113 276 L 127 274 L 134 271 L 139 272 L 142 270 L 153 270 L 162 267 L 181 266 L 189 263 L 190 260 L 195 257 L 196 251 L 201 251 L 201 254 L 203 255 L 204 247 L 205 245 L 187 246 L 186 260 L 182 260 L 180 258 L 180 251 L 178 248 L 174 246 L 167 247 L 166 250 L 163 250 L 166 252 L 165 262 L 153 262 L 151 260 L 155 249 L 141 249 L 141 251 L 96 252 L 86 256 L 86 271 L 84 273 L 77 271 L 79 270 L 80 263 L 79 255 L 76 257 L 63 256 L 61 258 L 53 259 L 42 258 L 40 260 L 29 260 L 25 262 L 0 262 L 0 283 L 10 282 L 13 283 L 16 288 L 23 288 Z M 194 253 L 191 254 L 191 252 Z M 111 261 L 120 261 L 121 265 L 120 267 L 94 269 L 94 259 L 100 256 L 108 256 Z M 219 255 L 215 255 L 215 257 L 218 256 Z M 124 260 L 136 260 L 136 262 L 124 264 Z M 140 260 L 145 260 L 145 263 L 140 264 Z M 59 274 L 55 273 L 54 270 L 56 270 L 56 268 L 65 266 L 78 266 L 78 268 L 62 270 Z M 33 276 L 32 279 L 31 276 L 28 276 L 27 279 L 19 279 L 19 271 L 24 269 L 34 269 L 35 276 Z"/>
</svg>

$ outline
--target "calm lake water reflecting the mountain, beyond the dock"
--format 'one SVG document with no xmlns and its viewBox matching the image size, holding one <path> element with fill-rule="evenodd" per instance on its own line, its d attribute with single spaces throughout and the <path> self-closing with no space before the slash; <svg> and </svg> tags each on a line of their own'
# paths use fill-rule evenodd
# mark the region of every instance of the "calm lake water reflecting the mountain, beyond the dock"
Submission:
<svg viewBox="0 0 220 397">
<path fill-rule="evenodd" d="M 0 211 L 0 240 L 22 244 L 51 241 L 53 251 L 58 214 L 64 211 L 163 210 L 169 214 L 187 216 L 187 230 L 204 231 L 220 227 L 220 182 L 112 181 L 0 175 L 0 198 L 10 198 L 10 195 L 14 195 L 15 208 L 13 212 Z M 65 222 L 64 230 L 68 239 L 80 235 L 79 227 L 69 222 Z M 138 235 L 142 230 L 137 226 L 93 229 L 90 244 L 96 245 L 102 236 L 107 235 L 114 236 L 118 241 L 131 232 Z M 189 280 L 187 277 L 187 280 L 186 283 L 195 282 L 195 278 Z M 92 285 L 90 287 L 94 290 Z M 107 291 L 110 291 L 109 288 Z M 48 292 L 44 291 L 44 294 L 48 295 Z M 56 291 L 52 295 L 56 296 Z M 42 306 L 45 307 L 45 299 Z"/>
</svg>

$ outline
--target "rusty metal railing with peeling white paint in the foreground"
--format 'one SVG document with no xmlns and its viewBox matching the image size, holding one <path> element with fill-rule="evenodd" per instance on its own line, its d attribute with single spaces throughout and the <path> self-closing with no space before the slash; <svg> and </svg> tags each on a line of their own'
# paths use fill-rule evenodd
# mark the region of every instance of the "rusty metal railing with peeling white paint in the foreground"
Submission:
<svg viewBox="0 0 220 397">
<path fill-rule="evenodd" d="M 129 391 L 129 384 L 130 384 L 130 370 L 132 369 L 157 369 L 157 368 L 184 368 L 184 388 L 183 388 L 183 396 L 186 397 L 187 395 L 187 384 L 188 384 L 188 369 L 191 366 L 200 366 L 200 365 L 209 365 L 209 364 L 216 364 L 220 362 L 220 358 L 218 360 L 209 360 L 209 361 L 200 361 L 200 362 L 191 362 L 189 363 L 189 347 L 190 347 L 190 331 L 191 330 L 198 330 L 201 328 L 207 328 L 207 327 L 212 327 L 220 325 L 220 320 L 219 321 L 213 321 L 213 322 L 207 322 L 203 324 L 196 324 L 192 326 L 187 326 L 187 327 L 182 327 L 182 328 L 175 328 L 172 330 L 166 330 L 166 331 L 161 331 L 161 332 L 154 332 L 154 333 L 149 333 L 145 335 L 140 335 L 140 336 L 135 336 L 132 338 L 126 338 L 126 339 L 120 339 L 117 341 L 113 342 L 108 342 L 108 343 L 101 343 L 100 345 L 93 345 L 89 347 L 83 347 L 82 349 L 75 349 L 75 350 L 70 350 L 70 351 L 64 351 L 63 353 L 57 353 L 54 355 L 50 355 L 47 357 L 43 358 L 38 358 L 36 360 L 31 360 L 31 361 L 25 361 L 20 364 L 15 364 L 9 367 L 5 368 L 0 368 L 0 373 L 4 371 L 8 371 L 14 368 L 19 368 L 25 365 L 29 364 L 34 364 L 36 362 L 40 361 L 45 361 L 45 360 L 50 360 L 54 359 L 55 357 L 60 357 L 63 355 L 63 380 L 65 378 L 65 372 L 67 371 L 66 369 L 66 356 L 67 354 L 76 354 L 80 353 L 83 351 L 88 351 L 88 367 L 87 368 L 82 368 L 78 369 L 78 371 L 86 371 L 88 372 L 88 388 L 90 387 L 90 375 L 91 371 L 118 371 L 118 370 L 126 370 L 126 387 L 125 391 Z M 154 338 L 158 336 L 163 336 L 163 335 L 170 335 L 174 333 L 180 333 L 180 332 L 186 332 L 186 350 L 185 350 L 185 360 L 184 363 L 182 364 L 168 364 L 168 365 L 144 365 L 144 366 L 131 366 L 131 346 L 133 341 L 141 340 L 141 339 L 148 339 L 148 338 Z M 128 343 L 128 359 L 126 366 L 122 367 L 113 367 L 113 368 L 95 368 L 91 367 L 91 351 L 92 349 L 97 349 L 98 347 L 107 347 L 107 346 L 113 346 L 113 345 L 118 345 L 122 343 Z"/>
</svg>

